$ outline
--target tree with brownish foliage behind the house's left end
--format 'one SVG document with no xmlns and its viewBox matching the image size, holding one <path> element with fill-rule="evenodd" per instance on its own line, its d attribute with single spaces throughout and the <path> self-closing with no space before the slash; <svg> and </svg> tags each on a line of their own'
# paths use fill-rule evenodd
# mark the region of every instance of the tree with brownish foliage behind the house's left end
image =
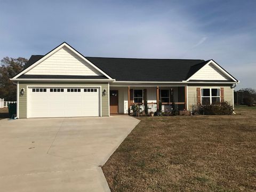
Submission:
<svg viewBox="0 0 256 192">
<path fill-rule="evenodd" d="M 14 77 L 23 69 L 25 63 L 28 60 L 26 58 L 9 58 L 4 57 L 1 60 L 0 66 L 0 98 L 5 101 L 16 101 L 17 86 L 10 81 L 10 78 Z"/>
</svg>

